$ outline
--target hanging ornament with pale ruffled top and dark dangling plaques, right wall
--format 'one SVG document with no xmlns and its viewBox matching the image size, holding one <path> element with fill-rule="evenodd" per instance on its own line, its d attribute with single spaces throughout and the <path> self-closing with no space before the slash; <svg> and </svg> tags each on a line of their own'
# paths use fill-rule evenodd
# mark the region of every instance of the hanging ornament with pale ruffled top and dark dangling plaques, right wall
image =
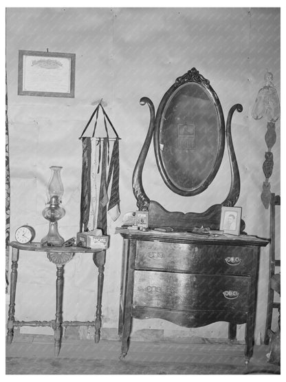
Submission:
<svg viewBox="0 0 286 382">
<path fill-rule="evenodd" d="M 265 118 L 267 120 L 267 131 L 265 134 L 265 142 L 267 150 L 265 152 L 265 161 L 263 162 L 263 173 L 265 181 L 262 186 L 261 200 L 265 209 L 270 206 L 271 200 L 271 184 L 269 182 L 274 167 L 272 147 L 276 142 L 275 123 L 280 117 L 280 102 L 276 88 L 273 83 L 273 74 L 266 72 L 264 76 L 265 85 L 259 90 L 257 94 L 254 107 L 252 109 L 252 117 L 255 120 Z"/>
</svg>

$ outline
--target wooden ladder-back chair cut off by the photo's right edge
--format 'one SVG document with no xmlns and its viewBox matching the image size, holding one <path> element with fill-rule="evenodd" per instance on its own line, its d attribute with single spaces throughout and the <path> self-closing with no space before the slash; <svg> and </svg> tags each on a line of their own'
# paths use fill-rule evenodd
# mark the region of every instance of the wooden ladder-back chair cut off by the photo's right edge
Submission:
<svg viewBox="0 0 286 382">
<path fill-rule="evenodd" d="M 278 309 L 278 326 L 280 329 L 280 302 L 274 301 L 274 291 L 281 294 L 281 275 L 276 273 L 276 267 L 280 268 L 280 259 L 276 259 L 275 251 L 275 209 L 276 206 L 281 205 L 280 195 L 271 194 L 270 199 L 270 258 L 269 258 L 269 279 L 268 279 L 268 298 L 267 298 L 267 313 L 266 313 L 266 323 L 265 323 L 265 335 L 264 343 L 268 345 L 270 341 L 269 330 L 272 326 L 272 314 L 273 309 Z"/>
</svg>

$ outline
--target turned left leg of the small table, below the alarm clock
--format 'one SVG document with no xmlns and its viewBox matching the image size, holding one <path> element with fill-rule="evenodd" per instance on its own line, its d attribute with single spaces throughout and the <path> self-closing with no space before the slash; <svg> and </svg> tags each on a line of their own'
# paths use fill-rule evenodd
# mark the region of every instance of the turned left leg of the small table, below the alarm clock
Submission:
<svg viewBox="0 0 286 382">
<path fill-rule="evenodd" d="M 8 331 L 7 343 L 12 343 L 14 335 L 14 314 L 15 314 L 15 296 L 17 285 L 17 268 L 19 259 L 19 249 L 12 248 L 12 265 L 11 265 L 11 285 L 10 285 L 10 304 L 8 312 Z"/>
</svg>

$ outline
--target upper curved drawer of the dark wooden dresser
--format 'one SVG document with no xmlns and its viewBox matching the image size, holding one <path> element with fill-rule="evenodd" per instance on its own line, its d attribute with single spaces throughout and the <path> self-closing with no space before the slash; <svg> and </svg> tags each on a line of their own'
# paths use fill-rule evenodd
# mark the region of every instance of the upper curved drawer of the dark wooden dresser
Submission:
<svg viewBox="0 0 286 382">
<path fill-rule="evenodd" d="M 135 268 L 248 275 L 252 269 L 252 251 L 245 246 L 138 241 Z"/>
</svg>

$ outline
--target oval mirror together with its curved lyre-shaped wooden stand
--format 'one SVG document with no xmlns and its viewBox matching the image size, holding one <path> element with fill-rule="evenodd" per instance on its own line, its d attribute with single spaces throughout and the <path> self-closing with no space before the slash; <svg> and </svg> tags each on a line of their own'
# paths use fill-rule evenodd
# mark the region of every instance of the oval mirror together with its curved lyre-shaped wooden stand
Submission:
<svg viewBox="0 0 286 382">
<path fill-rule="evenodd" d="M 149 98 L 142 98 L 140 103 L 147 103 L 151 119 L 133 172 L 133 192 L 138 208 L 149 211 L 149 226 L 188 230 L 203 225 L 219 229 L 221 206 L 234 206 L 239 198 L 239 169 L 230 124 L 234 110 L 241 112 L 242 106 L 236 104 L 230 109 L 225 129 L 219 98 L 210 81 L 195 67 L 178 77 L 164 94 L 156 116 Z M 232 176 L 227 198 L 203 213 L 169 212 L 149 200 L 142 185 L 142 169 L 152 137 L 162 179 L 169 189 L 182 196 L 197 195 L 210 185 L 221 165 L 226 138 Z"/>
</svg>

